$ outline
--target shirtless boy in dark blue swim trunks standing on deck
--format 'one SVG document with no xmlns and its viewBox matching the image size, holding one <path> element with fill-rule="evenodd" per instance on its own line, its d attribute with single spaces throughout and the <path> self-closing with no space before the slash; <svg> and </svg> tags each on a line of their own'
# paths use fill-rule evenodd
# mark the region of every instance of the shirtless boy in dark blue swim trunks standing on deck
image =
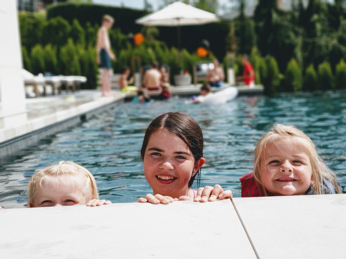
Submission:
<svg viewBox="0 0 346 259">
<path fill-rule="evenodd" d="M 108 30 L 112 28 L 113 22 L 114 22 L 113 17 L 111 17 L 110 15 L 104 15 L 102 19 L 102 26 L 97 31 L 96 51 L 97 51 L 97 64 L 100 64 L 102 68 L 102 78 L 101 78 L 102 96 L 111 95 L 110 60 L 115 60 L 115 55 L 113 54 L 110 48 Z"/>
</svg>

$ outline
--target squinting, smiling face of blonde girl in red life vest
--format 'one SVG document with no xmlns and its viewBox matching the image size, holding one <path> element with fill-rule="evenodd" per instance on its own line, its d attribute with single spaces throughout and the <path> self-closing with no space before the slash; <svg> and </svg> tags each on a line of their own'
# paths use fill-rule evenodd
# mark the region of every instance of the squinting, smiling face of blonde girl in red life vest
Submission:
<svg viewBox="0 0 346 259">
<path fill-rule="evenodd" d="M 265 189 L 274 195 L 305 194 L 312 184 L 306 148 L 291 139 L 270 143 L 260 158 L 260 175 Z"/>
</svg>

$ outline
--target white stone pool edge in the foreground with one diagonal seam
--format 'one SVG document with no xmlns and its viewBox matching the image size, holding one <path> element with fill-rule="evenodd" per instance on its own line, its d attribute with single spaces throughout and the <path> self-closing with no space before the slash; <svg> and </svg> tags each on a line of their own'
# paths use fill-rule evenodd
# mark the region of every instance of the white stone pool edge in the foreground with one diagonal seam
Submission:
<svg viewBox="0 0 346 259">
<path fill-rule="evenodd" d="M 3 209 L 0 255 L 345 258 L 345 208 L 346 194 L 330 194 Z"/>
</svg>

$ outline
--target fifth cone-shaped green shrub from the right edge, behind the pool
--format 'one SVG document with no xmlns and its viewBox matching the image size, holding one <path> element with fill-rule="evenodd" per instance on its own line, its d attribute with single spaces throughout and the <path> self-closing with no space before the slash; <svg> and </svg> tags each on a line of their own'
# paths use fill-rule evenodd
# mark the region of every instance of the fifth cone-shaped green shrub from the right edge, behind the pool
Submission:
<svg viewBox="0 0 346 259">
<path fill-rule="evenodd" d="M 263 78 L 264 93 L 267 95 L 272 95 L 276 93 L 282 75 L 279 72 L 279 66 L 274 57 L 266 57 L 267 75 Z"/>
</svg>

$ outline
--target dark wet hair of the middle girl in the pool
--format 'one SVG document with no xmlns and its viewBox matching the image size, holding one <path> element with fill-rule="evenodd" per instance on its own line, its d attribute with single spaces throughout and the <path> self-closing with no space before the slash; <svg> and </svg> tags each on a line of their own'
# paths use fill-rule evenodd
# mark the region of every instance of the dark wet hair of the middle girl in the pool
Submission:
<svg viewBox="0 0 346 259">
<path fill-rule="evenodd" d="M 151 134 L 162 129 L 177 135 L 188 145 L 195 158 L 195 163 L 203 157 L 203 134 L 198 123 L 187 114 L 169 112 L 155 118 L 145 131 L 142 149 L 140 150 L 143 160 Z M 200 170 L 191 176 L 189 187 L 192 186 L 196 175 L 200 175 Z"/>
</svg>

